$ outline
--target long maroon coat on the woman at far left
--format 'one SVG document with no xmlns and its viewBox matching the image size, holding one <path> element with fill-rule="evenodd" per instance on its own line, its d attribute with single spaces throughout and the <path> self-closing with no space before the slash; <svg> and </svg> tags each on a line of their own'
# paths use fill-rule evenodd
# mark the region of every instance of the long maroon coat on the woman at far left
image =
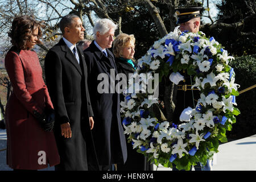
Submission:
<svg viewBox="0 0 256 182">
<path fill-rule="evenodd" d="M 5 57 L 13 93 L 6 105 L 7 164 L 14 169 L 42 169 L 55 166 L 60 158 L 53 132 L 42 129 L 34 110 L 53 108 L 42 78 L 42 68 L 34 51 L 12 47 Z M 46 164 L 40 158 L 46 154 Z"/>
</svg>

